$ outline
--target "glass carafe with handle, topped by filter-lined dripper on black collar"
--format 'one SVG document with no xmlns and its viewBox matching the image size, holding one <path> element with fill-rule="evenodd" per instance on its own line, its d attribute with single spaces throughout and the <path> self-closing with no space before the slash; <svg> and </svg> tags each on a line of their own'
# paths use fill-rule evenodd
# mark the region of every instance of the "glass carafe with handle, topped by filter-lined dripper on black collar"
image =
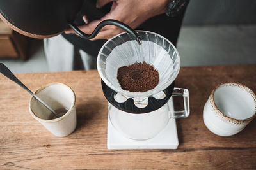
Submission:
<svg viewBox="0 0 256 170">
<path fill-rule="evenodd" d="M 100 49 L 97 69 L 102 78 L 102 90 L 109 101 L 108 118 L 116 130 L 136 140 L 156 136 L 170 118 L 189 115 L 188 89 L 174 88 L 180 69 L 180 57 L 172 43 L 148 31 L 136 31 L 142 44 L 138 45 L 129 33 L 109 39 Z M 119 67 L 135 62 L 152 64 L 159 72 L 158 85 L 147 92 L 123 90 L 117 80 Z M 171 111 L 172 96 L 184 98 L 184 110 Z"/>
</svg>

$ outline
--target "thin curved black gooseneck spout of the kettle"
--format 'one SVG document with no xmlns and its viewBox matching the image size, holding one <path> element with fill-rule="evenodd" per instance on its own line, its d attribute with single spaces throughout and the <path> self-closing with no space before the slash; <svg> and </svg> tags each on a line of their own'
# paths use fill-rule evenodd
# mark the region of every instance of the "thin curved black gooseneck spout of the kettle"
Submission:
<svg viewBox="0 0 256 170">
<path fill-rule="evenodd" d="M 124 24 L 123 22 L 120 22 L 118 20 L 104 20 L 102 22 L 100 22 L 99 25 L 97 25 L 97 27 L 94 29 L 94 31 L 92 32 L 92 34 L 85 34 L 83 31 L 81 31 L 77 25 L 75 24 L 68 24 L 79 36 L 81 36 L 81 38 L 85 38 L 85 39 L 91 39 L 94 38 L 95 36 L 97 36 L 97 34 L 99 33 L 100 29 L 102 29 L 102 27 L 106 26 L 106 25 L 115 25 L 116 27 L 120 27 L 122 29 L 124 29 L 125 31 L 127 31 L 129 34 L 131 34 L 131 36 L 136 39 L 136 41 L 139 43 L 139 45 L 141 45 L 142 41 L 141 38 L 139 36 L 139 34 L 137 32 L 135 32 L 131 27 L 129 27 L 128 25 Z"/>
</svg>

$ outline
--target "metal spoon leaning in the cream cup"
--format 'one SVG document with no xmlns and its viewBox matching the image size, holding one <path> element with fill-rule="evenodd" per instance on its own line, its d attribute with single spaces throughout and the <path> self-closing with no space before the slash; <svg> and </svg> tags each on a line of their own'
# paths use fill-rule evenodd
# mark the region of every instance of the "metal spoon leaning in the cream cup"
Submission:
<svg viewBox="0 0 256 170">
<path fill-rule="evenodd" d="M 31 92 L 31 90 L 28 89 L 28 87 L 26 87 L 13 73 L 12 71 L 10 71 L 10 69 L 8 69 L 8 67 L 6 67 L 3 63 L 0 63 L 0 72 L 6 76 L 7 78 L 9 78 L 10 80 L 14 81 L 15 83 L 17 83 L 18 85 L 20 85 L 20 87 L 23 87 L 23 89 L 25 89 L 27 92 L 29 92 L 29 94 L 31 94 L 31 96 L 35 97 L 36 100 L 38 100 L 40 103 L 42 103 L 48 110 L 50 110 L 57 118 L 58 117 L 62 117 L 65 113 L 59 113 L 57 114 L 54 110 L 52 110 L 52 108 L 50 108 L 50 106 L 48 106 L 48 104 L 46 104 L 44 101 L 42 101 L 42 99 L 40 99 L 38 96 L 36 96 L 33 92 Z"/>
</svg>

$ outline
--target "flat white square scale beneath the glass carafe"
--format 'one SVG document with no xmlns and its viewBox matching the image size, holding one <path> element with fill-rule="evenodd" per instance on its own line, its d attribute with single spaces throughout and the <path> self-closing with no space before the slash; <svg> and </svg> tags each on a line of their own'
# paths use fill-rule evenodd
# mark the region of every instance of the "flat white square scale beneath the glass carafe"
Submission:
<svg viewBox="0 0 256 170">
<path fill-rule="evenodd" d="M 172 105 L 173 111 L 173 105 Z M 177 149 L 179 145 L 175 119 L 171 118 L 168 125 L 154 138 L 138 141 L 126 138 L 118 132 L 108 118 L 108 149 Z"/>
</svg>

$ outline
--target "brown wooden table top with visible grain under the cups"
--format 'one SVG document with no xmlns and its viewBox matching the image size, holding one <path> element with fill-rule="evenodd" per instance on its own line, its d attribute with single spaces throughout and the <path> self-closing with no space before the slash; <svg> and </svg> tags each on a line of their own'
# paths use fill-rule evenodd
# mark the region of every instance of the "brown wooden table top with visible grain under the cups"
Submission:
<svg viewBox="0 0 256 170">
<path fill-rule="evenodd" d="M 189 89 L 191 113 L 177 120 L 177 150 L 108 150 L 107 101 L 97 71 L 19 73 L 35 91 L 67 83 L 76 93 L 77 129 L 58 138 L 28 111 L 29 94 L 0 75 L 0 169 L 256 169 L 256 119 L 230 137 L 212 134 L 202 111 L 211 90 L 239 81 L 256 92 L 256 65 L 182 67 L 176 87 Z"/>
</svg>

